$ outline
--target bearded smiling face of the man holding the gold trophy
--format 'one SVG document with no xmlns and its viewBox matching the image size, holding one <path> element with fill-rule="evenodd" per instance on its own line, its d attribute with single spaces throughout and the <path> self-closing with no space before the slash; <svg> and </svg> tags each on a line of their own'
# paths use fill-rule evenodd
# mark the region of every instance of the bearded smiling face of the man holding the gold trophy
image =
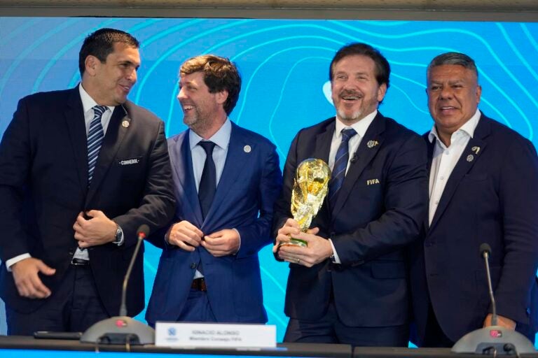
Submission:
<svg viewBox="0 0 538 358">
<path fill-rule="evenodd" d="M 350 125 L 378 108 L 387 85 L 375 79 L 373 59 L 350 55 L 333 65 L 331 92 L 338 119 Z"/>
</svg>

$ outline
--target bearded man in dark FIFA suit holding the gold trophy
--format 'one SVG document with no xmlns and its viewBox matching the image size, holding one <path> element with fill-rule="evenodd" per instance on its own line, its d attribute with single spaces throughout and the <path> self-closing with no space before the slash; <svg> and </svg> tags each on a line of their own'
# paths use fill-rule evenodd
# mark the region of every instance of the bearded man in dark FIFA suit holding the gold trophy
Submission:
<svg viewBox="0 0 538 358">
<path fill-rule="evenodd" d="M 338 50 L 329 70 L 336 117 L 302 129 L 291 144 L 274 224 L 274 251 L 291 263 L 284 341 L 407 345 L 404 248 L 426 210 L 426 155 L 420 136 L 377 110 L 389 73 L 369 45 Z M 310 157 L 333 173 L 303 233 L 290 218 L 290 197 L 296 168 Z M 285 245 L 290 237 L 308 247 Z"/>
</svg>

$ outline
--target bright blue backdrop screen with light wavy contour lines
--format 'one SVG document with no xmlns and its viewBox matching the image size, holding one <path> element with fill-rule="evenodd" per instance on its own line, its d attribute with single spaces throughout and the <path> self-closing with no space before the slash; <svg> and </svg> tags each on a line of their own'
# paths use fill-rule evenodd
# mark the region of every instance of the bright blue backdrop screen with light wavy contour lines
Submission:
<svg viewBox="0 0 538 358">
<path fill-rule="evenodd" d="M 426 66 L 441 52 L 465 52 L 480 72 L 480 108 L 537 143 L 538 23 L 371 20 L 0 17 L 0 136 L 22 96 L 78 83 L 78 50 L 101 27 L 123 29 L 141 41 L 142 66 L 129 98 L 162 118 L 167 136 L 185 129 L 176 99 L 179 65 L 214 53 L 230 57 L 243 78 L 230 118 L 270 138 L 284 164 L 298 129 L 334 115 L 328 83 L 334 53 L 361 41 L 378 48 L 392 66 L 380 107 L 384 115 L 418 133 L 429 130 Z M 159 256 L 160 250 L 146 245 L 146 299 Z M 288 268 L 273 259 L 270 248 L 259 257 L 269 323 L 282 340 Z"/>
</svg>

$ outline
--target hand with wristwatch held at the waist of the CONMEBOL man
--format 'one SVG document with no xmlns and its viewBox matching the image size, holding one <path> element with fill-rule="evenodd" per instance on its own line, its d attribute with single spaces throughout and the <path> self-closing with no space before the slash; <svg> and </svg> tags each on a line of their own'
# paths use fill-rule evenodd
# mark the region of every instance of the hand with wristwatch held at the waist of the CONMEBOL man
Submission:
<svg viewBox="0 0 538 358">
<path fill-rule="evenodd" d="M 110 220 L 100 210 L 87 211 L 86 215 L 90 219 L 86 220 L 83 213 L 78 213 L 73 225 L 79 248 L 103 245 L 116 240 L 116 222 Z"/>
</svg>

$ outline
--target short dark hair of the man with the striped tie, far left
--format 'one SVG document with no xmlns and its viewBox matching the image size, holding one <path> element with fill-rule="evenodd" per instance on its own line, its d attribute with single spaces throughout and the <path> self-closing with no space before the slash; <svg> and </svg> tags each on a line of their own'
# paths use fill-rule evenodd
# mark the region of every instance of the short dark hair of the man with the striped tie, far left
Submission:
<svg viewBox="0 0 538 358">
<path fill-rule="evenodd" d="M 114 51 L 114 43 L 125 43 L 133 48 L 139 48 L 140 43 L 131 34 L 116 29 L 99 29 L 84 39 L 81 51 L 78 52 L 78 70 L 83 76 L 86 57 L 92 55 L 100 62 L 106 62 L 106 57 Z"/>
</svg>

